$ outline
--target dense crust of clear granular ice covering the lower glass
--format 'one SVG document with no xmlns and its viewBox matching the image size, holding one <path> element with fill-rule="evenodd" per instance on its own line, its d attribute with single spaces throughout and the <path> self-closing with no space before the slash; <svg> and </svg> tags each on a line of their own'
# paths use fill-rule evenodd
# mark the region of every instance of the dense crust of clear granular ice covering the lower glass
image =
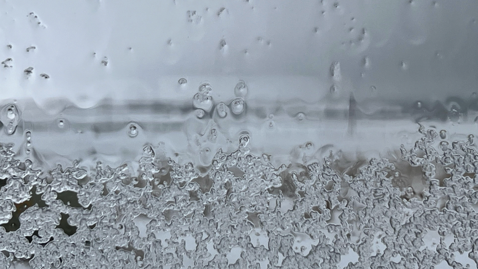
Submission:
<svg viewBox="0 0 478 269">
<path fill-rule="evenodd" d="M 206 168 L 146 146 L 139 171 L 42 173 L 0 144 L 0 268 L 468 268 L 457 260 L 478 259 L 473 137 L 420 131 L 405 162 L 345 171 L 333 157 L 273 167 L 248 136 Z"/>
</svg>

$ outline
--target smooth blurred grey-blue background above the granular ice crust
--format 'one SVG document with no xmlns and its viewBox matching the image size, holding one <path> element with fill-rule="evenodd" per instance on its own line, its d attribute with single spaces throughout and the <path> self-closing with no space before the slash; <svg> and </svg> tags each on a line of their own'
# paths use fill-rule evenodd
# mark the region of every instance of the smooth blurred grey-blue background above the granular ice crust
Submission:
<svg viewBox="0 0 478 269">
<path fill-rule="evenodd" d="M 119 164 L 163 142 L 207 164 L 243 132 L 278 163 L 307 142 L 322 155 L 390 155 L 415 141 L 417 122 L 452 135 L 477 127 L 474 0 L 5 0 L 0 10 L 0 100 L 4 114 L 18 109 L 0 139 L 23 154 L 31 131 L 39 160 Z M 212 104 L 199 119 L 204 83 Z M 215 116 L 238 97 L 244 111 Z M 212 129 L 217 140 L 197 142 Z"/>
</svg>

